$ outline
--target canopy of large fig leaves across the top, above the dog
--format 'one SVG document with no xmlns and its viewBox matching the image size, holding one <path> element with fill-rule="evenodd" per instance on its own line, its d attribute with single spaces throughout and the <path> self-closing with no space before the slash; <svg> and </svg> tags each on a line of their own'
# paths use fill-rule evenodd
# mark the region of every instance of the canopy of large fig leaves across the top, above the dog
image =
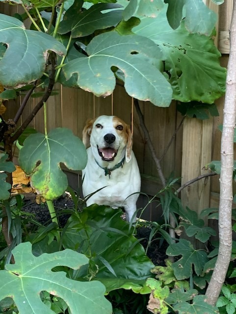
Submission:
<svg viewBox="0 0 236 314">
<path fill-rule="evenodd" d="M 173 17 L 173 0 L 168 2 L 167 5 L 156 0 L 152 5 L 147 5 L 143 0 L 120 0 L 118 4 L 95 3 L 86 6 L 82 0 L 77 0 L 72 5 L 60 8 L 62 20 L 56 22 L 55 28 L 43 20 L 39 13 L 38 19 L 32 24 L 34 29 L 25 29 L 22 21 L 2 14 L 0 40 L 9 45 L 16 32 L 19 40 L 3 52 L 0 80 L 4 86 L 19 87 L 41 78 L 44 72 L 49 71 L 46 67 L 46 52 L 53 51 L 58 55 L 66 55 L 66 58 L 60 59 L 61 65 L 66 65 L 62 71 L 58 70 L 56 79 L 60 74 L 60 82 L 67 86 L 70 81 L 71 86 L 92 91 L 96 95 L 109 95 L 114 89 L 116 74 L 125 81 L 129 95 L 140 100 L 151 100 L 155 105 L 169 105 L 171 87 L 173 97 L 180 101 L 201 100 L 212 103 L 222 95 L 225 85 L 225 69 L 219 65 L 220 54 L 210 39 L 215 14 L 204 4 L 201 6 L 200 1 L 198 12 L 201 19 L 206 19 L 209 14 L 214 19 L 206 19 L 210 25 L 204 23 L 205 28 L 199 29 L 203 24 L 196 24 L 192 20 L 193 16 L 188 10 L 192 5 L 191 0 L 185 0 L 182 4 L 187 9 L 186 17 L 182 17 L 181 6 L 178 7 L 178 14 L 176 7 L 179 25 L 173 30 L 168 24 L 170 17 Z M 44 8 L 49 11 L 54 6 L 54 2 L 44 2 L 43 6 L 35 1 L 29 3 L 35 9 Z M 43 13 L 42 10 L 41 14 Z M 139 21 L 139 25 L 133 29 L 129 24 L 132 17 L 135 17 L 133 26 Z M 25 18 L 26 15 L 23 14 L 21 19 Z M 49 14 L 48 18 L 52 19 L 53 15 Z M 40 28 L 47 33 L 37 31 Z M 127 34 L 130 28 L 130 35 L 121 35 Z M 103 34 L 102 29 L 106 30 Z M 43 44 L 37 45 L 38 42 Z M 10 58 L 15 53 L 15 45 L 20 53 L 19 60 L 14 58 L 18 75 L 13 78 L 10 73 Z M 203 53 L 205 58 L 201 57 Z M 27 73 L 29 68 L 32 69 L 30 74 Z M 117 68 L 122 75 L 118 74 Z M 201 77 L 198 88 L 189 81 L 189 71 L 194 72 L 195 78 Z M 189 88 L 183 88 L 184 86 Z"/>
</svg>

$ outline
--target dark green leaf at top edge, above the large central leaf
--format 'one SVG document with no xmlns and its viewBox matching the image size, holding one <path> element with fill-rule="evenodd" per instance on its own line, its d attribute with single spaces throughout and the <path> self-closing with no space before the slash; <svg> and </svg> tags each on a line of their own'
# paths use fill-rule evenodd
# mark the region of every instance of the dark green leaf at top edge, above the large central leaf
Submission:
<svg viewBox="0 0 236 314">
<path fill-rule="evenodd" d="M 72 38 L 92 34 L 96 29 L 117 25 L 122 19 L 122 10 L 111 10 L 121 7 L 117 3 L 98 3 L 88 10 L 80 11 L 83 1 L 75 1 L 66 11 L 58 32 L 66 34 L 71 31 Z M 109 10 L 102 13 L 102 11 Z"/>
</svg>

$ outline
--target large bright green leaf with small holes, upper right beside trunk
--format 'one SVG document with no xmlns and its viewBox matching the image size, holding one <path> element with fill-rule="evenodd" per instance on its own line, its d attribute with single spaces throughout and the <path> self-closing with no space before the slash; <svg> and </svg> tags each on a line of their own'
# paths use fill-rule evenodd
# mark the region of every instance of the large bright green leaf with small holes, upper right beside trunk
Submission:
<svg viewBox="0 0 236 314">
<path fill-rule="evenodd" d="M 190 34 L 184 21 L 173 30 L 164 9 L 157 18 L 139 18 L 133 32 L 152 39 L 163 51 L 174 99 L 211 104 L 225 92 L 226 69 L 220 66 L 221 54 L 210 37 Z"/>
</svg>

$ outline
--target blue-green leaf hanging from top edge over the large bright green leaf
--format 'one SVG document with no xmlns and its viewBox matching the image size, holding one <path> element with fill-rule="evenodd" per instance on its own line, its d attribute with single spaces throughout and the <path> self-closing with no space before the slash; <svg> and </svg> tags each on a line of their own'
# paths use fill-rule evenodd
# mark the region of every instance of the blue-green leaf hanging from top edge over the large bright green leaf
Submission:
<svg viewBox="0 0 236 314">
<path fill-rule="evenodd" d="M 190 33 L 210 36 L 217 22 L 217 15 L 203 0 L 166 0 L 167 18 L 170 26 L 180 26 L 185 5 L 185 27 Z"/>
</svg>

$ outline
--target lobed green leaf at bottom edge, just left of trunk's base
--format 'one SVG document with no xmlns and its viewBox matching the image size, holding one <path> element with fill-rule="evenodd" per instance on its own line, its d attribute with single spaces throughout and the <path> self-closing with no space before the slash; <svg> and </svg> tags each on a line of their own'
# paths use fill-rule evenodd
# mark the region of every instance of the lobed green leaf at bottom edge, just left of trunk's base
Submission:
<svg viewBox="0 0 236 314">
<path fill-rule="evenodd" d="M 212 306 L 205 302 L 205 299 L 205 295 L 197 295 L 194 297 L 192 304 L 188 302 L 180 302 L 175 305 L 173 309 L 179 314 L 218 314 L 218 309 L 215 306 Z"/>
</svg>

